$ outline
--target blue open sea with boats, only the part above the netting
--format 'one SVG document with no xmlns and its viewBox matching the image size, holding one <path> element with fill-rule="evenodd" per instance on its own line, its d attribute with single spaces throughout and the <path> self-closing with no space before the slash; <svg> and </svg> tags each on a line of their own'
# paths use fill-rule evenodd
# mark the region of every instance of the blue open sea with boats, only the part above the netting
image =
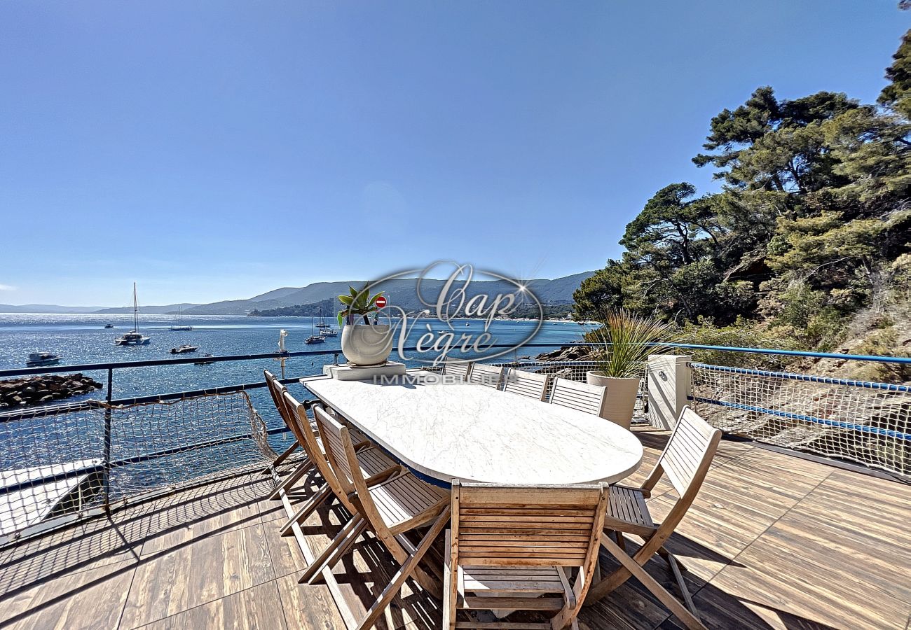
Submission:
<svg viewBox="0 0 911 630">
<path fill-rule="evenodd" d="M 115 328 L 106 329 L 105 324 Z M 60 356 L 62 365 L 102 363 L 113 361 L 154 361 L 161 359 L 201 357 L 209 353 L 215 356 L 232 354 L 261 354 L 278 351 L 279 330 L 288 331 L 285 347 L 288 351 L 339 351 L 342 337 L 328 337 L 319 344 L 304 341 L 314 332 L 312 320 L 301 317 L 261 318 L 231 315 L 185 316 L 181 324 L 193 327 L 189 331 L 172 331 L 176 318 L 164 315 L 140 315 L 139 330 L 151 340 L 143 346 L 116 346 L 114 340 L 133 328 L 133 316 L 128 315 L 43 315 L 43 314 L 0 314 L 0 369 L 24 368 L 30 352 L 48 351 Z M 326 323 L 337 328 L 334 319 Z M 414 347 L 418 338 L 427 332 L 427 324 L 436 332 L 445 330 L 439 320 L 421 320 L 414 326 L 405 342 Z M 467 324 L 467 326 L 466 326 Z M 484 329 L 481 320 L 453 320 L 456 339 L 463 332 L 479 334 Z M 517 343 L 525 340 L 537 326 L 535 321 L 494 320 L 488 331 L 491 343 Z M 581 339 L 589 326 L 568 321 L 545 321 L 529 342 L 552 343 L 549 348 L 525 348 L 510 352 L 500 361 L 512 361 L 517 357 L 534 358 L 538 353 L 553 350 L 565 343 Z M 319 332 L 318 329 L 315 330 Z M 171 348 L 189 343 L 199 346 L 192 354 L 173 355 Z M 409 367 L 421 365 L 415 352 L 406 353 L 404 362 Z M 402 361 L 395 354 L 394 361 Z M 284 361 L 284 372 L 288 378 L 322 373 L 322 366 L 333 362 L 333 355 L 293 357 Z M 262 371 L 281 372 L 281 363 L 275 359 L 261 361 L 224 361 L 210 365 L 183 364 L 149 368 L 129 368 L 114 372 L 113 398 L 121 399 L 146 396 L 172 391 L 192 391 L 262 381 Z M 96 381 L 107 381 L 106 371 L 85 371 Z M 81 398 L 101 398 L 101 392 Z M 79 398 L 74 400 L 80 400 Z"/>
</svg>

